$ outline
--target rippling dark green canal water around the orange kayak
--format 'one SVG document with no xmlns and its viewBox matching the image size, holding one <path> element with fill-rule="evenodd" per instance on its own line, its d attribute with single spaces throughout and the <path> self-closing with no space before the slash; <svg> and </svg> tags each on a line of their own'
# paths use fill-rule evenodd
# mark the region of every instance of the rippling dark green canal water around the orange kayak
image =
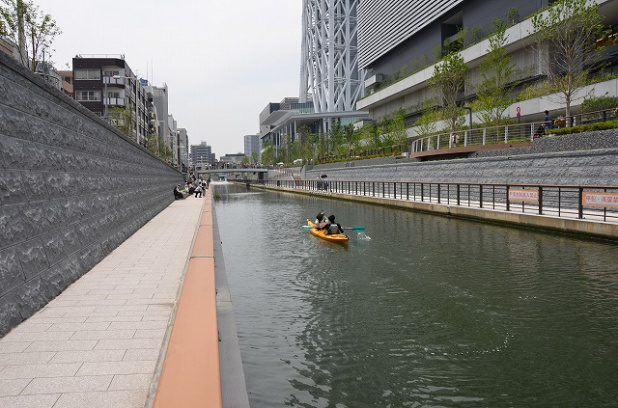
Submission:
<svg viewBox="0 0 618 408">
<path fill-rule="evenodd" d="M 215 189 L 252 408 L 618 405 L 615 245 Z"/>
</svg>

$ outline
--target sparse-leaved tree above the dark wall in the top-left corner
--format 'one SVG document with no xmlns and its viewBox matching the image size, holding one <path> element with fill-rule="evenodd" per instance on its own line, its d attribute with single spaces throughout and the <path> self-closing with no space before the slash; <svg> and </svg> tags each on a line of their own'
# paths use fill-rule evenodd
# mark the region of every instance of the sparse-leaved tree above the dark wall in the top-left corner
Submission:
<svg viewBox="0 0 618 408">
<path fill-rule="evenodd" d="M 19 47 L 22 64 L 36 71 L 42 53 L 62 33 L 60 28 L 32 1 L 0 1 L 0 35 L 11 36 Z"/>
</svg>

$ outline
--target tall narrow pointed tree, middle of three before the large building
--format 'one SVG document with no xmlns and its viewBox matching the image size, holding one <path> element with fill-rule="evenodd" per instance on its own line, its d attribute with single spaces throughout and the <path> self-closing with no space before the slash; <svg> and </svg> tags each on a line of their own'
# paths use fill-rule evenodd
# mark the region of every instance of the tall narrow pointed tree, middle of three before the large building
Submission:
<svg viewBox="0 0 618 408">
<path fill-rule="evenodd" d="M 516 85 L 513 81 L 516 68 L 504 48 L 508 38 L 506 26 L 504 21 L 496 20 L 494 27 L 496 32 L 489 37 L 487 55 L 480 64 L 482 79 L 474 102 L 486 126 L 503 124 L 504 112 L 515 100 L 512 91 Z"/>
</svg>

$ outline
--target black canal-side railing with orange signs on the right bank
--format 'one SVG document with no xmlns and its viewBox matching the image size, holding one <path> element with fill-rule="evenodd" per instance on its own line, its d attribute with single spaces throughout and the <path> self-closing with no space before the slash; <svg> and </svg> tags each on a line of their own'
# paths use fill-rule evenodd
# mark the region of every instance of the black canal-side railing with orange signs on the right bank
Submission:
<svg viewBox="0 0 618 408">
<path fill-rule="evenodd" d="M 291 180 L 268 186 L 618 223 L 618 186 Z"/>
</svg>

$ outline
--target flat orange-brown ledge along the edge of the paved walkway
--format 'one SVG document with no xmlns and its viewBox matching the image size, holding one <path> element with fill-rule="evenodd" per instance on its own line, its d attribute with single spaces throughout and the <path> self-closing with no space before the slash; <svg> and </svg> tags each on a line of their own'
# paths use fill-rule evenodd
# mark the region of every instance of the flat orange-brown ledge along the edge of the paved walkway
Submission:
<svg viewBox="0 0 618 408">
<path fill-rule="evenodd" d="M 205 202 L 210 200 L 207 194 Z M 155 408 L 223 406 L 210 209 L 209 205 L 204 206 L 191 250 L 155 395 Z"/>
</svg>

